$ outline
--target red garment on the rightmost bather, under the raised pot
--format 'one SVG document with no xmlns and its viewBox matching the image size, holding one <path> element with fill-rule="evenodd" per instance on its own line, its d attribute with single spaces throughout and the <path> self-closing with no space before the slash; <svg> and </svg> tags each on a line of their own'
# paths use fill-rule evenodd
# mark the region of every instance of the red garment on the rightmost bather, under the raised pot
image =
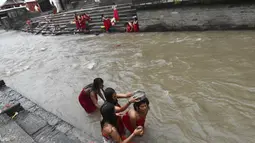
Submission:
<svg viewBox="0 0 255 143">
<path fill-rule="evenodd" d="M 128 115 L 128 112 L 122 117 L 122 121 L 123 121 L 125 127 L 129 130 L 129 132 L 133 133 L 135 129 L 131 125 L 130 117 Z M 145 118 L 141 117 L 140 119 L 136 120 L 136 126 L 144 127 L 144 123 L 145 123 Z"/>
</svg>

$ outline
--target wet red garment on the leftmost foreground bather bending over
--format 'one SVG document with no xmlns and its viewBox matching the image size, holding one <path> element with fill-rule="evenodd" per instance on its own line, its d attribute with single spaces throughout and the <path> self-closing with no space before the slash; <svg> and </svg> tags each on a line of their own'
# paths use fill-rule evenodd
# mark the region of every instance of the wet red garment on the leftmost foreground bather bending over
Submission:
<svg viewBox="0 0 255 143">
<path fill-rule="evenodd" d="M 94 103 L 92 102 L 90 98 L 90 94 L 89 94 L 90 92 L 86 92 L 85 90 L 86 89 L 82 89 L 79 95 L 79 102 L 87 113 L 92 113 L 97 109 L 97 107 L 94 105 Z M 96 94 L 96 100 L 98 100 L 97 94 Z"/>
</svg>

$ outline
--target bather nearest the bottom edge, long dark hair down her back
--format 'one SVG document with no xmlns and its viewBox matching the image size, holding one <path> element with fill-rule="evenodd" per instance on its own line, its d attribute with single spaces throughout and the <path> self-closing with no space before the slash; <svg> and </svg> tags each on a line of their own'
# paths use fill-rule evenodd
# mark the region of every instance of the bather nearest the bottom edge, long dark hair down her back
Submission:
<svg viewBox="0 0 255 143">
<path fill-rule="evenodd" d="M 141 135 L 142 127 L 134 129 L 132 134 L 127 137 L 121 137 L 118 132 L 117 116 L 115 106 L 112 103 L 105 102 L 100 108 L 103 120 L 101 121 L 101 132 L 104 143 L 130 143 L 132 138 Z"/>
</svg>

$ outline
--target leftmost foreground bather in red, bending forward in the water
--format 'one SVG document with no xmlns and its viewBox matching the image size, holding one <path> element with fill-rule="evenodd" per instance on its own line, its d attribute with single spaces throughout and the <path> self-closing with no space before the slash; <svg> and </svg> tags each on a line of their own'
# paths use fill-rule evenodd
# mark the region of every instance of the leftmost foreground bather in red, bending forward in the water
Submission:
<svg viewBox="0 0 255 143">
<path fill-rule="evenodd" d="M 104 81 L 101 78 L 96 78 L 92 84 L 89 84 L 82 89 L 78 99 L 81 106 L 87 113 L 92 113 L 97 108 L 100 108 L 97 95 L 105 100 L 101 93 L 103 83 Z"/>
</svg>

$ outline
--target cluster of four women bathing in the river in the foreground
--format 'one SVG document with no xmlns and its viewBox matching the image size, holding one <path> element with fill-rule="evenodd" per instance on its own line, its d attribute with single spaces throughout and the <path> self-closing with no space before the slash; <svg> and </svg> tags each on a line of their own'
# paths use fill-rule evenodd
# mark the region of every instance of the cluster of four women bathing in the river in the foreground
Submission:
<svg viewBox="0 0 255 143">
<path fill-rule="evenodd" d="M 98 104 L 98 96 L 104 104 Z M 126 98 L 128 102 L 121 106 L 118 99 Z M 81 106 L 88 114 L 100 110 L 102 115 L 101 134 L 104 143 L 130 143 L 135 136 L 144 134 L 145 119 L 149 110 L 146 96 L 135 98 L 132 93 L 119 94 L 113 88 L 104 89 L 104 81 L 95 78 L 93 83 L 85 86 L 78 97 Z M 133 104 L 132 109 L 128 107 Z M 122 114 L 125 112 L 124 114 Z"/>
</svg>

